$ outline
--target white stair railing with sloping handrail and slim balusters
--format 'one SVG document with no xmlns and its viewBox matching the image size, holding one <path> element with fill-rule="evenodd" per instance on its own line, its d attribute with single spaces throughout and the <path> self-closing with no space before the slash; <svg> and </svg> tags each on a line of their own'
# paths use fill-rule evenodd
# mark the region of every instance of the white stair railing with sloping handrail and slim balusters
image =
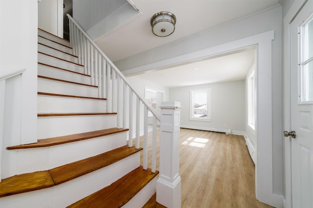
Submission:
<svg viewBox="0 0 313 208">
<path fill-rule="evenodd" d="M 140 105 L 144 106 L 143 119 L 143 168 L 148 168 L 148 110 L 153 115 L 152 133 L 152 172 L 156 172 L 156 127 L 160 115 L 130 85 L 126 77 L 112 61 L 92 41 L 80 25 L 67 14 L 69 19 L 69 38 L 73 54 L 79 64 L 84 65 L 84 73 L 91 76 L 91 84 L 98 86 L 98 97 L 107 99 L 107 112 L 117 112 L 117 127 L 129 128 L 129 147 L 140 146 Z M 134 108 L 135 107 L 135 108 Z M 135 110 L 134 110 L 135 109 Z M 127 111 L 128 110 L 128 111 Z M 135 111 L 135 117 L 134 117 Z M 129 114 L 127 115 L 127 112 Z M 135 122 L 134 122 L 135 121 Z M 133 126 L 133 123 L 135 125 Z"/>
</svg>

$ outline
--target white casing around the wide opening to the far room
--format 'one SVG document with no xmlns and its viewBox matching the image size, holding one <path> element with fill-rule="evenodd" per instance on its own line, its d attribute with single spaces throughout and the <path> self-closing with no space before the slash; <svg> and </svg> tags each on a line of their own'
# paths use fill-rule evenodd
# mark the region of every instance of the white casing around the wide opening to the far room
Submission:
<svg viewBox="0 0 313 208">
<path fill-rule="evenodd" d="M 272 156 L 272 40 L 274 31 L 268 31 L 232 42 L 205 48 L 189 54 L 150 63 L 123 71 L 124 74 L 136 73 L 143 69 L 162 69 L 183 62 L 195 62 L 207 57 L 218 56 L 251 45 L 257 45 L 256 84 L 257 84 L 257 109 L 256 109 L 256 136 L 257 165 L 256 172 L 256 197 L 266 204 L 282 207 L 282 197 L 273 193 L 273 156 Z"/>
</svg>

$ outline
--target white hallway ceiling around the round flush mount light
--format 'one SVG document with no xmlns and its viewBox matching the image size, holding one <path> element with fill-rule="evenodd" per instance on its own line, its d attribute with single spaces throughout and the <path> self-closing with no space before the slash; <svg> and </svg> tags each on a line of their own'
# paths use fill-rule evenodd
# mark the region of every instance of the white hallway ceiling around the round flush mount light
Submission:
<svg viewBox="0 0 313 208">
<path fill-rule="evenodd" d="M 113 62 L 238 20 L 276 4 L 278 0 L 132 0 L 132 2 L 140 14 L 95 40 Z M 151 32 L 150 19 L 160 11 L 172 12 L 177 18 L 175 32 L 168 37 L 156 37 Z"/>
</svg>

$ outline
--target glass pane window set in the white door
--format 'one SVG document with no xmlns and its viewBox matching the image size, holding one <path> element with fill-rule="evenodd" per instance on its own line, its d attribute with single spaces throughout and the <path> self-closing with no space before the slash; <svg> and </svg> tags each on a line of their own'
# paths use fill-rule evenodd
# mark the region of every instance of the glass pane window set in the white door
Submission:
<svg viewBox="0 0 313 208">
<path fill-rule="evenodd" d="M 313 17 L 304 22 L 299 33 L 301 102 L 313 102 Z"/>
</svg>

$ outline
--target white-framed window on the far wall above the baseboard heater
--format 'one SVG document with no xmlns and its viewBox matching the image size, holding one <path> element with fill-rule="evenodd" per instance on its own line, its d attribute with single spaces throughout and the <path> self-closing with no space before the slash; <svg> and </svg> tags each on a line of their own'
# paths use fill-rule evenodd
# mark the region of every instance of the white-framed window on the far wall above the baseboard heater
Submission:
<svg viewBox="0 0 313 208">
<path fill-rule="evenodd" d="M 211 89 L 190 90 L 190 120 L 211 121 Z"/>
</svg>

